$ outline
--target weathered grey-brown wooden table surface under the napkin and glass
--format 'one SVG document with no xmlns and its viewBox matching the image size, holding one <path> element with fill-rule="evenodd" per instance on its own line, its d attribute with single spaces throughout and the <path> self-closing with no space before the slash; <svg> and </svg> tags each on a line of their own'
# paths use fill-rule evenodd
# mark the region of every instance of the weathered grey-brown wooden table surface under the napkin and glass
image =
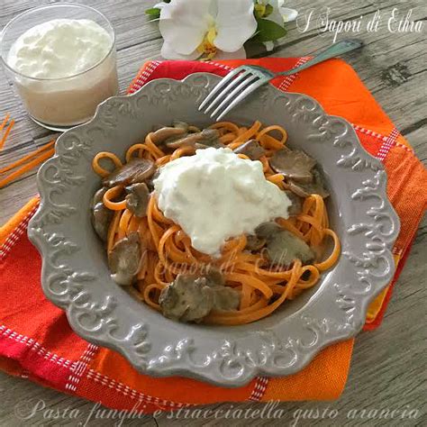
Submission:
<svg viewBox="0 0 427 427">
<path fill-rule="evenodd" d="M 121 90 L 124 91 L 141 64 L 147 59 L 158 59 L 161 40 L 156 25 L 147 23 L 144 9 L 154 0 L 74 0 L 102 11 L 113 23 L 117 33 L 118 68 Z M 196 0 L 195 0 L 196 1 Z M 1 0 L 0 28 L 16 14 L 48 0 Z M 377 32 L 361 29 L 357 36 L 366 43 L 364 50 L 346 56 L 365 85 L 382 105 L 397 129 L 413 145 L 418 157 L 427 160 L 427 43 L 424 0 L 296 0 L 286 5 L 297 8 L 301 14 L 313 9 L 313 23 L 307 32 L 289 26 L 285 41 L 270 56 L 292 57 L 312 54 L 332 42 L 333 34 L 319 34 L 314 18 L 322 7 L 331 8 L 335 20 L 357 19 L 363 15 L 366 24 L 377 10 L 382 16 Z M 411 19 L 422 22 L 422 32 L 393 33 L 387 30 L 387 20 L 393 8 L 404 16 L 413 9 Z M 340 35 L 339 40 L 345 35 Z M 259 56 L 265 52 L 254 52 Z M 16 124 L 14 132 L 0 153 L 0 168 L 18 159 L 36 147 L 50 141 L 52 134 L 32 123 L 23 106 L 0 69 L 0 119 L 10 112 Z M 4 223 L 32 195 L 36 194 L 35 170 L 20 177 L 10 186 L 0 190 L 0 223 Z M 384 323 L 376 332 L 362 332 L 355 344 L 350 377 L 341 398 L 329 403 L 282 403 L 281 419 L 237 419 L 235 425 L 426 425 L 425 403 L 427 395 L 426 354 L 427 304 L 426 269 L 427 222 L 421 224 L 413 250 L 404 272 L 395 286 Z M 117 420 L 93 418 L 85 424 L 93 404 L 76 397 L 32 384 L 30 381 L 0 373 L 0 425 L 118 425 Z M 31 408 L 38 401 L 44 410 L 32 414 Z M 234 408 L 262 409 L 262 404 L 233 404 Z M 27 408 L 25 410 L 25 408 Z M 210 409 L 231 409 L 232 404 L 211 405 Z M 73 414 L 69 416 L 70 411 Z M 46 412 L 53 410 L 53 412 Z M 331 411 L 337 411 L 331 412 Z M 365 410 L 365 413 L 363 413 Z M 369 418 L 368 411 L 371 411 Z M 395 410 L 394 417 L 379 419 L 377 413 Z M 26 411 L 26 412 L 25 412 Z M 58 412 L 57 412 L 58 411 Z M 409 411 L 412 419 L 405 415 Z M 54 414 L 59 417 L 56 418 Z M 68 415 L 64 415 L 68 413 Z M 330 419 L 329 416 L 336 417 Z M 26 415 L 25 415 L 26 414 Z M 299 418 L 298 418 L 299 415 Z M 354 415 L 354 416 L 353 416 Z M 374 418 L 372 418 L 374 417 Z M 298 419 L 297 419 L 298 418 Z M 126 420 L 122 425 L 223 425 L 221 419 L 169 419 L 166 415 L 154 419 L 145 416 L 140 420 Z M 228 421 L 230 422 L 230 421 Z M 227 422 L 227 423 L 228 423 Z"/>
</svg>

